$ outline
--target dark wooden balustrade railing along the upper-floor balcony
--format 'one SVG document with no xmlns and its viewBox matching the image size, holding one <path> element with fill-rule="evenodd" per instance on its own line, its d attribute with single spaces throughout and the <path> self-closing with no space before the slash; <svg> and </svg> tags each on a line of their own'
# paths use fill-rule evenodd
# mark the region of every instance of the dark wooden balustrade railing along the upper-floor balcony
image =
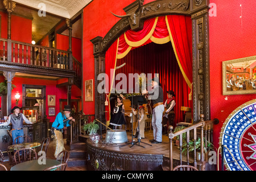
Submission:
<svg viewBox="0 0 256 182">
<path fill-rule="evenodd" d="M 78 61 L 78 63 L 76 61 L 75 63 L 70 63 L 68 51 L 17 42 L 15 40 L 11 40 L 8 43 L 11 44 L 10 46 L 7 45 L 7 42 L 7 39 L 0 38 L 1 61 L 70 70 L 73 70 L 72 67 L 75 65 L 77 70 L 81 69 L 81 64 L 79 65 Z"/>
</svg>

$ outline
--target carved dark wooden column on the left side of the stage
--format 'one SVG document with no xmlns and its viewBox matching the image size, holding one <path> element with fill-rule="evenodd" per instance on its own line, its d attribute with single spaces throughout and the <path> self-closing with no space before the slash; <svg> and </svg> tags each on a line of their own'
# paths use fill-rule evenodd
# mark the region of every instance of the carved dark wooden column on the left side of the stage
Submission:
<svg viewBox="0 0 256 182">
<path fill-rule="evenodd" d="M 97 77 L 100 73 L 105 73 L 105 52 L 102 52 L 101 42 L 102 37 L 97 36 L 96 38 L 90 40 L 93 43 L 93 55 L 94 55 L 94 95 L 95 95 L 95 118 L 101 120 L 102 122 L 106 122 L 105 118 L 105 93 L 98 93 L 97 86 L 101 82 L 101 80 L 97 80 Z M 110 104 L 110 103 L 109 103 Z"/>
</svg>

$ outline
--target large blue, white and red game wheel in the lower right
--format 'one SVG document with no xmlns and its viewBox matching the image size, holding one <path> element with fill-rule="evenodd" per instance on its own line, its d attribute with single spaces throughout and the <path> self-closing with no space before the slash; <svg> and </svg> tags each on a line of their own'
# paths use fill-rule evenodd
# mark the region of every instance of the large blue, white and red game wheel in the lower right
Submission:
<svg viewBox="0 0 256 182">
<path fill-rule="evenodd" d="M 220 146 L 230 171 L 256 171 L 256 99 L 237 107 L 224 122 Z"/>
</svg>

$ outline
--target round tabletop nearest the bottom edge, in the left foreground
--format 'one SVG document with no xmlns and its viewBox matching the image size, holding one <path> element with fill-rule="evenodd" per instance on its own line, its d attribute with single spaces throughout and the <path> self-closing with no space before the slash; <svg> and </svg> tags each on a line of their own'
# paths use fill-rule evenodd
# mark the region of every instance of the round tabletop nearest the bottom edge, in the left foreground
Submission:
<svg viewBox="0 0 256 182">
<path fill-rule="evenodd" d="M 39 164 L 42 160 L 28 160 L 11 167 L 11 171 L 43 171 L 43 169 L 61 164 L 59 160 L 46 159 L 46 164 Z"/>
</svg>

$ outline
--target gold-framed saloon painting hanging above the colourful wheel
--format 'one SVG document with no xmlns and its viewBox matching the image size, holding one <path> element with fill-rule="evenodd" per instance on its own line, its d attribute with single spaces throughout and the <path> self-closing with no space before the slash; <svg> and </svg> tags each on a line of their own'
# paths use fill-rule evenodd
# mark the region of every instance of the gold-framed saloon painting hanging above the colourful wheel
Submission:
<svg viewBox="0 0 256 182">
<path fill-rule="evenodd" d="M 256 94 L 256 56 L 222 62 L 222 94 Z"/>
</svg>

